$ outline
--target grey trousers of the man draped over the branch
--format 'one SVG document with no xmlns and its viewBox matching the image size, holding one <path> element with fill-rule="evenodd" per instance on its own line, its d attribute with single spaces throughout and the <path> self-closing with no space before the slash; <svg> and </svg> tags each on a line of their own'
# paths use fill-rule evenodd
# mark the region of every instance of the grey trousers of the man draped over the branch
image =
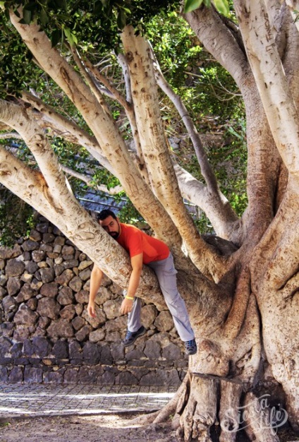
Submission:
<svg viewBox="0 0 299 442">
<path fill-rule="evenodd" d="M 194 333 L 190 324 L 188 311 L 176 287 L 177 271 L 173 265 L 173 256 L 170 253 L 168 258 L 161 261 L 152 261 L 152 263 L 147 265 L 152 268 L 157 275 L 161 292 L 164 294 L 164 299 L 173 317 L 173 323 L 176 326 L 181 340 L 193 340 Z M 133 309 L 128 313 L 128 330 L 131 332 L 137 331 L 142 325 L 140 321 L 141 306 L 141 299 L 135 297 Z"/>
</svg>

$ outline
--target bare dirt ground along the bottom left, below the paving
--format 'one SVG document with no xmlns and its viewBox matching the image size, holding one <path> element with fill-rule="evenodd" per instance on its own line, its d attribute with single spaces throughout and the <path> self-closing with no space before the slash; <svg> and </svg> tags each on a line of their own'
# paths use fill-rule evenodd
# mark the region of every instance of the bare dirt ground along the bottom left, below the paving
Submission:
<svg viewBox="0 0 299 442">
<path fill-rule="evenodd" d="M 176 442 L 169 425 L 140 426 L 136 415 L 2 419 L 1 442 Z"/>
</svg>

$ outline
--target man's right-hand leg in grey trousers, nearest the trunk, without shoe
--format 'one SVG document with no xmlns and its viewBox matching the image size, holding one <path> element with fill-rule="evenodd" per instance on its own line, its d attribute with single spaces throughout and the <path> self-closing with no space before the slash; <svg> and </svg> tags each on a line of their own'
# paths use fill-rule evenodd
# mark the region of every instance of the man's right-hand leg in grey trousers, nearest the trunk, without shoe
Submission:
<svg viewBox="0 0 299 442">
<path fill-rule="evenodd" d="M 148 265 L 157 275 L 161 291 L 164 294 L 164 299 L 181 340 L 184 342 L 194 340 L 195 336 L 190 324 L 188 311 L 176 286 L 177 271 L 173 265 L 172 255 L 170 254 L 168 258 L 162 261 L 153 261 Z"/>
</svg>

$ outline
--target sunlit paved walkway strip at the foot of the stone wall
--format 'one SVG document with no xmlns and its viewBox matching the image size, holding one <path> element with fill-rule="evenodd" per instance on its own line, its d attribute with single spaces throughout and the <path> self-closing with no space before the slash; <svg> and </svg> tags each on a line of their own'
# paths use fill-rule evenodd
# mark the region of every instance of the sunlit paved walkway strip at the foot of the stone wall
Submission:
<svg viewBox="0 0 299 442">
<path fill-rule="evenodd" d="M 1 384 L 0 419 L 159 410 L 177 387 Z"/>
</svg>

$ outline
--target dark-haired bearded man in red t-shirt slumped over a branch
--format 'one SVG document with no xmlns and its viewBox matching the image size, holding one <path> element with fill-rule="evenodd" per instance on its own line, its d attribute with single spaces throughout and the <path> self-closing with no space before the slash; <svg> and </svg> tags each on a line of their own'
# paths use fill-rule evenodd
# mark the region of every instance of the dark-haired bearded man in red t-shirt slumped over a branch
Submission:
<svg viewBox="0 0 299 442">
<path fill-rule="evenodd" d="M 140 282 L 142 265 L 146 264 L 156 273 L 161 292 L 173 317 L 174 325 L 181 340 L 185 342 L 186 354 L 195 354 L 197 346 L 195 336 L 190 325 L 185 302 L 176 287 L 176 269 L 173 266 L 173 257 L 168 246 L 159 239 L 152 238 L 137 227 L 119 222 L 118 217 L 111 210 L 102 210 L 97 219 L 99 224 L 123 246 L 130 255 L 132 273 L 128 290 L 124 293 L 121 304 L 121 313 L 128 313 L 128 331 L 123 344 L 128 347 L 139 337 L 145 334 L 146 329 L 140 322 L 141 299 L 135 297 Z M 103 272 L 96 265 L 90 277 L 90 299 L 87 311 L 94 318 L 94 299 L 101 285 Z"/>
</svg>

